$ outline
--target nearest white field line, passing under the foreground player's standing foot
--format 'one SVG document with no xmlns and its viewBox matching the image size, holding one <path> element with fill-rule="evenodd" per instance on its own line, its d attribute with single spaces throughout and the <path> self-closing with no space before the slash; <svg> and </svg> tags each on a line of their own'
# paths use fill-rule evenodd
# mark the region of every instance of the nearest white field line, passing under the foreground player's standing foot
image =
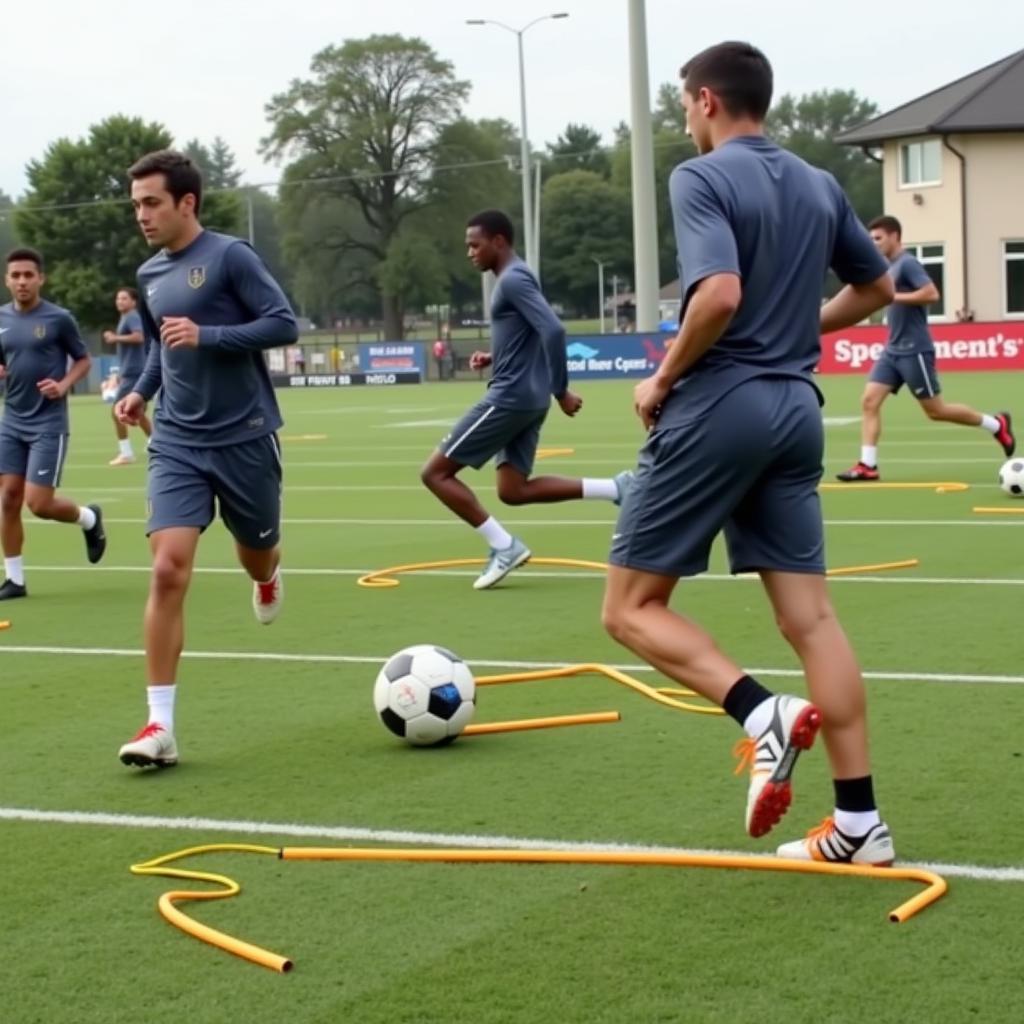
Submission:
<svg viewBox="0 0 1024 1024">
<path fill-rule="evenodd" d="M 245 821 L 223 818 L 158 817 L 152 814 L 112 814 L 103 811 L 43 811 L 28 807 L 0 807 L 0 820 L 31 821 L 61 825 L 101 825 L 114 828 L 154 828 L 181 831 L 241 833 L 250 836 L 288 836 L 298 839 L 355 840 L 362 843 L 404 843 L 416 846 L 470 847 L 479 850 L 560 850 L 589 853 L 608 850 L 615 853 L 684 853 L 718 856 L 771 856 L 752 854 L 749 850 L 685 849 L 641 843 L 596 840 L 567 841 L 523 839 L 513 836 L 481 836 L 459 833 L 421 833 L 398 828 L 366 828 L 354 825 L 315 825 L 295 822 Z M 900 867 L 919 867 L 948 878 L 984 882 L 1024 882 L 1024 867 L 990 867 L 982 864 L 944 864 L 899 862 Z"/>
</svg>

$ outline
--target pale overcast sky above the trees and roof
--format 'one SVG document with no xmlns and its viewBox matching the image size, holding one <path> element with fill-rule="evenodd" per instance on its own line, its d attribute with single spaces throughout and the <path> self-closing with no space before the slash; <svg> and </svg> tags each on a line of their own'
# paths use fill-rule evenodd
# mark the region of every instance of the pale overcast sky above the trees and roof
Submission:
<svg viewBox="0 0 1024 1024">
<path fill-rule="evenodd" d="M 853 88 L 883 110 L 1024 47 L 1024 4 L 1007 0 L 646 7 L 652 95 L 688 56 L 725 38 L 765 50 L 777 95 Z M 274 181 L 280 168 L 259 156 L 264 102 L 305 76 L 322 47 L 375 33 L 422 37 L 472 84 L 468 116 L 518 125 L 515 38 L 465 19 L 520 27 L 560 10 L 569 18 L 525 36 L 530 139 L 543 145 L 570 121 L 607 139 L 629 117 L 628 0 L 43 0 L 3 28 L 0 189 L 24 191 L 28 161 L 112 114 L 160 121 L 178 141 L 222 135 L 247 181 Z"/>
</svg>

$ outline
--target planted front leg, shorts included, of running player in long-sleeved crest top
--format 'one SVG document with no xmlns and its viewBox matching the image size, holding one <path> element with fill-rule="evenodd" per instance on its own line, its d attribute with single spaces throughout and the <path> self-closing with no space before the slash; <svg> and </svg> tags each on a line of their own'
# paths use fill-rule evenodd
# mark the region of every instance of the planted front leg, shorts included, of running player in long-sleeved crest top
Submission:
<svg viewBox="0 0 1024 1024">
<path fill-rule="evenodd" d="M 174 706 L 184 643 L 184 601 L 202 531 L 213 519 L 213 489 L 203 449 L 154 445 L 150 458 L 146 532 L 153 553 L 143 617 L 148 686 L 145 726 L 120 752 L 124 764 L 177 764 Z"/>
</svg>

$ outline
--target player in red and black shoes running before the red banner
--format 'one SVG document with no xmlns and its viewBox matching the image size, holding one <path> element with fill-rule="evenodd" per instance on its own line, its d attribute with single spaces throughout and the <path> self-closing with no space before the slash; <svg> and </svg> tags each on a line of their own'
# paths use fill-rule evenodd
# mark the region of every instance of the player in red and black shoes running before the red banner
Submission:
<svg viewBox="0 0 1024 1024">
<path fill-rule="evenodd" d="M 879 438 L 882 436 L 882 404 L 906 384 L 930 420 L 959 423 L 987 430 L 1007 458 L 1017 440 L 1009 413 L 977 413 L 969 406 L 948 402 L 940 394 L 935 372 L 935 344 L 928 331 L 928 306 L 939 299 L 939 290 L 928 271 L 903 248 L 903 228 L 895 217 L 876 217 L 868 225 L 871 241 L 889 260 L 896 294 L 886 314 L 889 341 L 882 358 L 867 378 L 860 399 L 860 461 L 837 479 L 878 480 Z"/>
</svg>

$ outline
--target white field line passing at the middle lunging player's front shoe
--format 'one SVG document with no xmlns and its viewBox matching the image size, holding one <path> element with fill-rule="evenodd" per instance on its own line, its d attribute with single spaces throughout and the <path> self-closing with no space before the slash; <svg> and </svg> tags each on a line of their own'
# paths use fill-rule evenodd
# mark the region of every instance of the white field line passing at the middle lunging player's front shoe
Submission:
<svg viewBox="0 0 1024 1024">
<path fill-rule="evenodd" d="M 30 565 L 32 572 L 148 572 L 148 565 Z M 229 565 L 206 565 L 193 569 L 194 572 L 206 575 L 240 575 L 241 569 Z M 379 572 L 380 569 L 335 569 L 335 568 L 289 568 L 286 566 L 287 575 L 311 575 L 311 577 L 362 577 L 370 572 Z M 416 573 L 418 577 L 462 577 L 464 579 L 475 578 L 477 573 L 471 569 L 421 569 Z M 604 572 L 595 572 L 589 569 L 579 571 L 543 571 L 540 569 L 529 569 L 529 577 L 540 580 L 603 580 Z M 685 583 L 757 583 L 754 575 L 731 575 L 727 572 L 706 572 L 702 575 L 693 577 Z M 926 587 L 1024 587 L 1024 579 L 1013 579 L 1004 577 L 914 577 L 914 575 L 847 575 L 831 577 L 829 583 L 834 584 L 894 584 Z"/>
</svg>

